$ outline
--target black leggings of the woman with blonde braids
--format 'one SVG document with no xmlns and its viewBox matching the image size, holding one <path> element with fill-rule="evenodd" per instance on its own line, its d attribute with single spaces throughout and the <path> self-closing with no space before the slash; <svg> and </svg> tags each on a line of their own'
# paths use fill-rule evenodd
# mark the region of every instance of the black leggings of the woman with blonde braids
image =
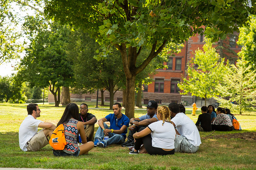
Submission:
<svg viewBox="0 0 256 170">
<path fill-rule="evenodd" d="M 139 132 L 142 131 L 143 129 L 145 129 L 146 127 L 141 127 Z M 174 149 L 170 150 L 170 151 L 165 151 L 162 148 L 156 148 L 156 147 L 152 147 L 152 137 L 151 134 L 148 134 L 142 138 L 138 138 L 136 139 L 135 145 L 134 145 L 134 149 L 139 150 L 140 146 L 144 144 L 144 147 L 146 149 L 146 151 L 149 154 L 160 154 L 160 155 L 166 155 L 166 154 L 174 154 Z"/>
</svg>

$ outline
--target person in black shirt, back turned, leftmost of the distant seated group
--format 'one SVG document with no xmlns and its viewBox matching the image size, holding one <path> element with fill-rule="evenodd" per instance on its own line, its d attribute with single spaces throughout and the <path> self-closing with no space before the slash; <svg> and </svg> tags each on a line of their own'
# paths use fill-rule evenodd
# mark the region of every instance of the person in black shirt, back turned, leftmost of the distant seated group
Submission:
<svg viewBox="0 0 256 170">
<path fill-rule="evenodd" d="M 207 107 L 202 106 L 201 112 L 202 114 L 198 116 L 198 119 L 196 121 L 196 127 L 198 131 L 205 131 L 205 132 L 212 131 L 211 115 L 207 113 Z"/>
</svg>

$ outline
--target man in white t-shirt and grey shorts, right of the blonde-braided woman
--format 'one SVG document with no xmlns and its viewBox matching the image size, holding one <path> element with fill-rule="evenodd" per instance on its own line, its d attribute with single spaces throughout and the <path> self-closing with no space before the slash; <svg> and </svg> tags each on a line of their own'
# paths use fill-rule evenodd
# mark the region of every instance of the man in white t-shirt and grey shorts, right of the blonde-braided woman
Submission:
<svg viewBox="0 0 256 170">
<path fill-rule="evenodd" d="M 175 152 L 195 153 L 201 144 L 200 134 L 195 123 L 184 113 L 178 104 L 169 104 L 172 124 L 176 128 Z"/>
</svg>

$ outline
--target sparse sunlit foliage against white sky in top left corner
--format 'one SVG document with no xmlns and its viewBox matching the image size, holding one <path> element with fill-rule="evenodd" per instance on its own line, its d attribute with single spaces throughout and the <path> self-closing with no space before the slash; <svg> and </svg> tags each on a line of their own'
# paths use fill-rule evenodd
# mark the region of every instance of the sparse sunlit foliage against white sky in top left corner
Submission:
<svg viewBox="0 0 256 170">
<path fill-rule="evenodd" d="M 22 36 L 15 28 L 18 18 L 12 12 L 10 0 L 0 1 L 0 65 L 19 57 L 23 45 L 18 39 Z"/>
</svg>

